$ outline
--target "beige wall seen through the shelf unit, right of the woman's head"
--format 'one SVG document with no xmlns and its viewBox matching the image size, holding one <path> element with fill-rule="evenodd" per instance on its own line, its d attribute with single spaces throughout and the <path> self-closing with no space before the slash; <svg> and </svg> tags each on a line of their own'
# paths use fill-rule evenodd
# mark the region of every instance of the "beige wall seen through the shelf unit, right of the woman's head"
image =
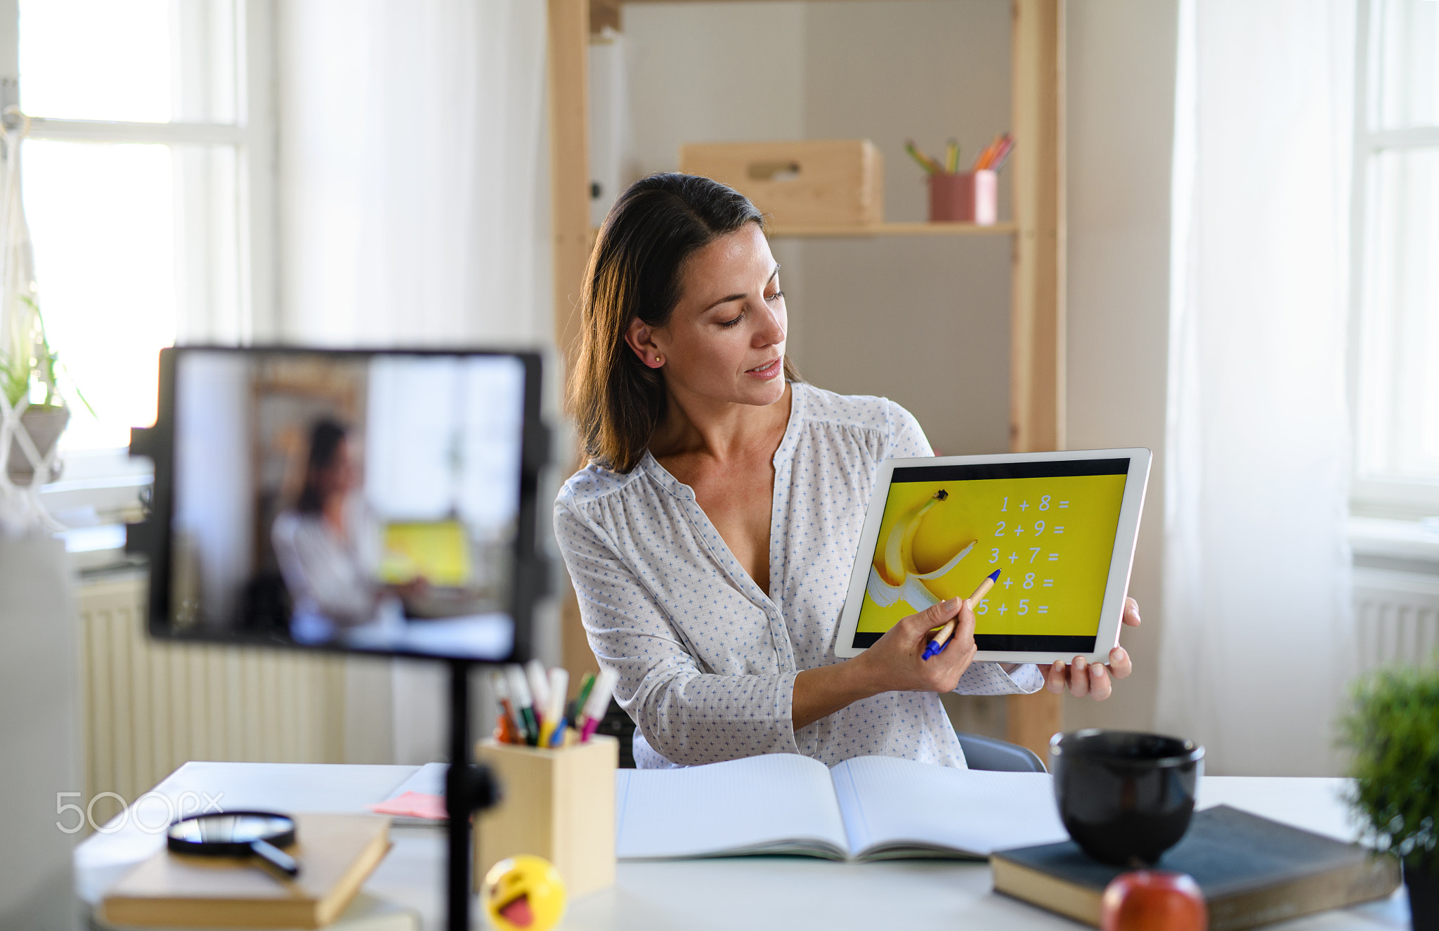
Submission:
<svg viewBox="0 0 1439 931">
<path fill-rule="evenodd" d="M 806 6 L 804 134 L 869 138 L 885 158 L 888 220 L 924 220 L 905 138 L 968 164 L 1009 128 L 1009 0 Z M 1000 216 L 1009 217 L 1002 174 Z M 1009 449 L 1007 236 L 810 240 L 790 312 L 800 371 L 908 407 L 937 452 Z"/>
</svg>

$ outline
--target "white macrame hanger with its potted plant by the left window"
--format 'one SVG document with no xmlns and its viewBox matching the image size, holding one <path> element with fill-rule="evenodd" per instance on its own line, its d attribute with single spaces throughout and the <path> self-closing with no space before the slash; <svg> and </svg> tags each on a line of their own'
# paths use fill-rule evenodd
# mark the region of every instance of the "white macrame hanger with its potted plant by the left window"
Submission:
<svg viewBox="0 0 1439 931">
<path fill-rule="evenodd" d="M 55 384 L 55 354 L 36 301 L 30 229 L 20 199 L 20 141 L 30 119 L 10 106 L 0 165 L 0 534 L 58 530 L 39 489 L 60 475 L 59 439 L 71 419 Z"/>
</svg>

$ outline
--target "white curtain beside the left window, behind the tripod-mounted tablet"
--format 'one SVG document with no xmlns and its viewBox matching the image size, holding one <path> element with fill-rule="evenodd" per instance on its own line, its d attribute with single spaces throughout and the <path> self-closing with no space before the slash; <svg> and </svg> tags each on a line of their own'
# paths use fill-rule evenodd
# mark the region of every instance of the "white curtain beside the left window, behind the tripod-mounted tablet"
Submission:
<svg viewBox="0 0 1439 931">
<path fill-rule="evenodd" d="M 260 335 L 548 345 L 545 4 L 288 0 L 276 12 L 281 311 Z M 350 761 L 440 758 L 437 663 L 353 660 L 347 694 Z"/>
</svg>

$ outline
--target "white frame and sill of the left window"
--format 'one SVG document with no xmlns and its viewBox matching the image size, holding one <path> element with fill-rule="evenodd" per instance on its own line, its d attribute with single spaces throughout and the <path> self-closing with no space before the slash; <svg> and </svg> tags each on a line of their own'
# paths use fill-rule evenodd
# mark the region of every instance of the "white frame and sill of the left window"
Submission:
<svg viewBox="0 0 1439 931">
<path fill-rule="evenodd" d="M 278 137 L 273 0 L 235 0 L 236 111 L 233 122 L 119 122 L 30 115 L 32 140 L 69 142 L 150 142 L 164 145 L 229 145 L 235 150 L 237 220 L 239 344 L 273 341 L 278 309 Z M 20 102 L 20 3 L 0 0 L 0 109 Z M 197 204 L 189 209 L 199 210 Z M 178 259 L 178 256 L 177 256 Z M 180 322 L 184 342 L 194 319 Z M 135 424 L 144 426 L 144 424 Z M 76 475 L 46 485 L 42 501 L 55 509 L 91 505 L 102 522 L 135 519 L 137 463 L 128 449 L 75 450 Z M 125 504 L 117 507 L 124 499 Z"/>
</svg>

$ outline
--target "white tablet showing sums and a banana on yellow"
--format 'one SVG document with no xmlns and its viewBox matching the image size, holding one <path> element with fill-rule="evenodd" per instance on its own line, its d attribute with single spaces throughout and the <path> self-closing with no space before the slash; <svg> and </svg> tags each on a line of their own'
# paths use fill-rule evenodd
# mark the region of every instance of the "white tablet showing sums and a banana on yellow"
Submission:
<svg viewBox="0 0 1439 931">
<path fill-rule="evenodd" d="M 835 653 L 858 656 L 1000 570 L 974 609 L 976 660 L 1107 662 L 1148 478 L 1148 449 L 886 459 Z"/>
</svg>

